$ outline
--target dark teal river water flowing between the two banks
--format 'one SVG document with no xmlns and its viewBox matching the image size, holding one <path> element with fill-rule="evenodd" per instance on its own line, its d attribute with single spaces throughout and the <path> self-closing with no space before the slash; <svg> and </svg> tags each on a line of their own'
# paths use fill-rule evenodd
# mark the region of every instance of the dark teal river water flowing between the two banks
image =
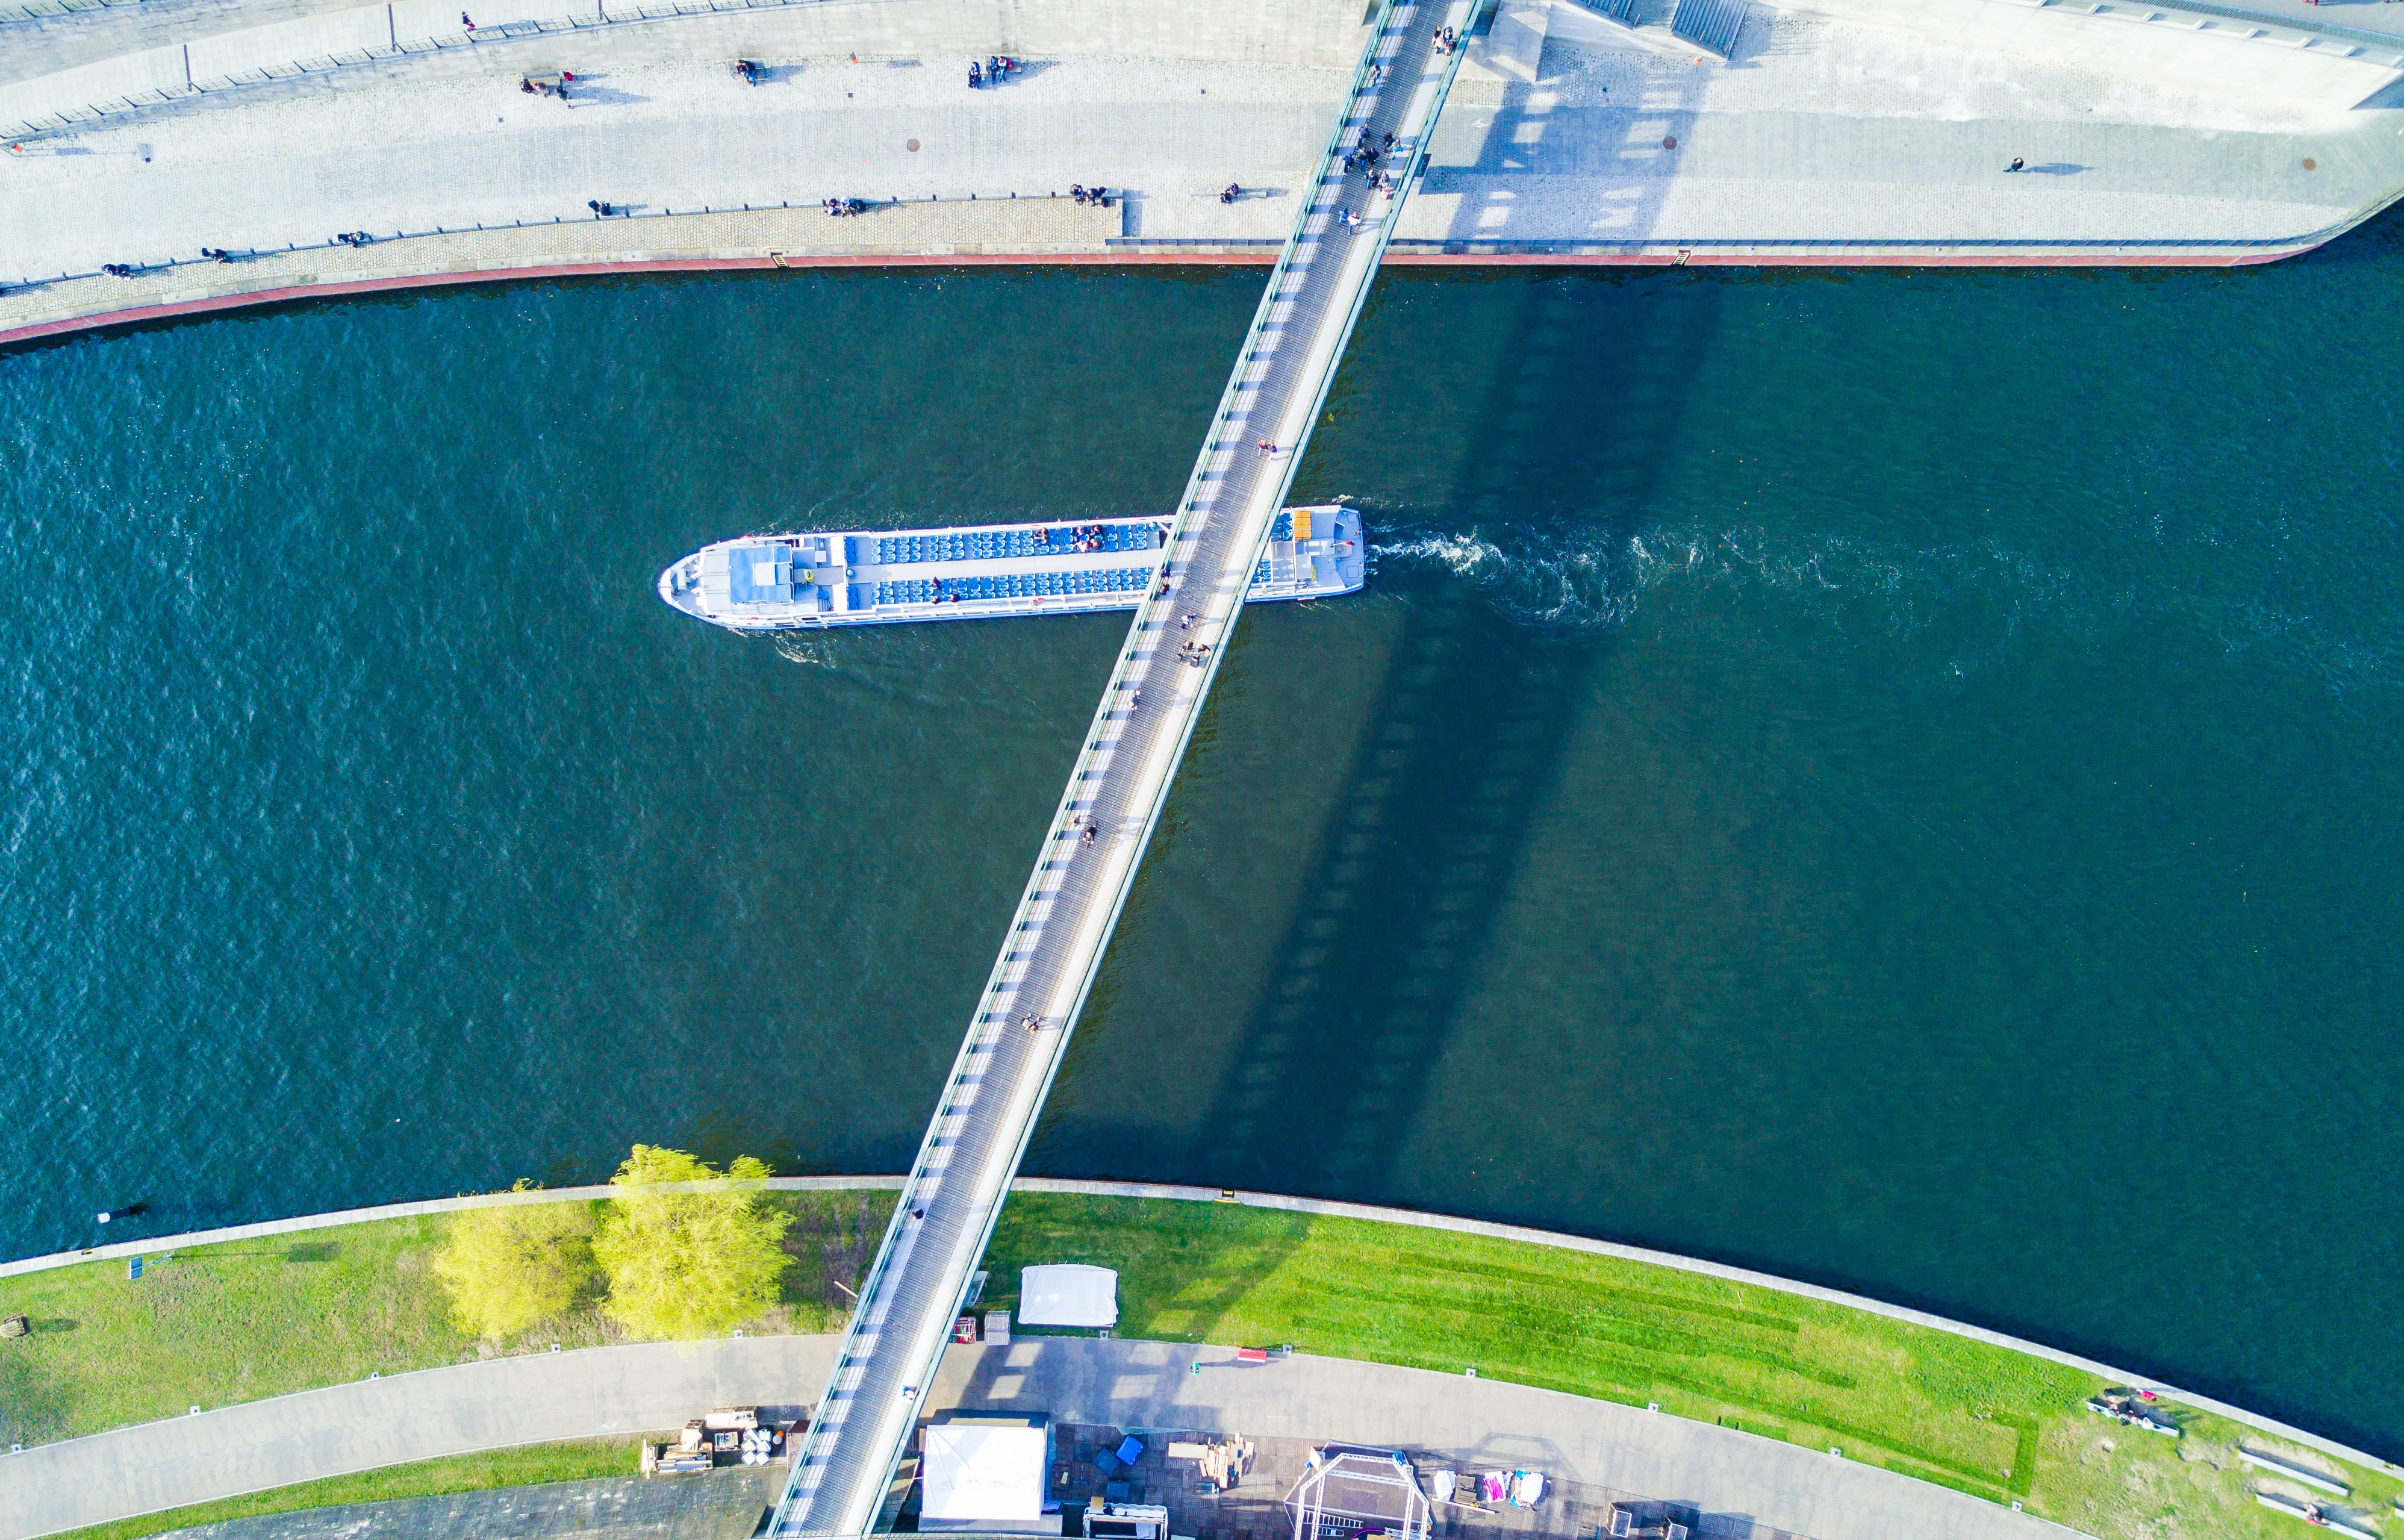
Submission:
<svg viewBox="0 0 2404 1540">
<path fill-rule="evenodd" d="M 1173 505 L 1257 271 L 478 288 L 0 358 L 0 1252 L 899 1170 L 1115 617 L 772 526 Z M 2404 223 L 1390 274 L 1029 1165 L 1988 1321 L 2404 1451 Z M 118 1228 L 123 1232 L 123 1225 Z"/>
</svg>

